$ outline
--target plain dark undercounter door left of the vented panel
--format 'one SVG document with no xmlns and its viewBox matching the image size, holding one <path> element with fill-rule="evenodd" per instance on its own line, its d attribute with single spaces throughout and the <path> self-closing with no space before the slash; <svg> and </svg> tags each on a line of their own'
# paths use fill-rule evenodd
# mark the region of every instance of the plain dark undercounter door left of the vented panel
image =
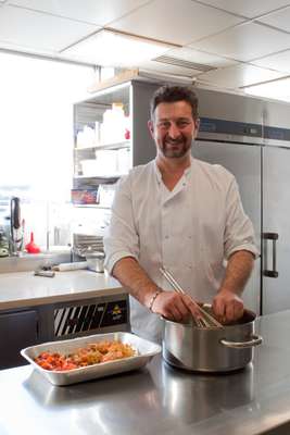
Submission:
<svg viewBox="0 0 290 435">
<path fill-rule="evenodd" d="M 20 350 L 37 343 L 37 311 L 0 314 L 0 369 L 26 363 Z"/>
</svg>

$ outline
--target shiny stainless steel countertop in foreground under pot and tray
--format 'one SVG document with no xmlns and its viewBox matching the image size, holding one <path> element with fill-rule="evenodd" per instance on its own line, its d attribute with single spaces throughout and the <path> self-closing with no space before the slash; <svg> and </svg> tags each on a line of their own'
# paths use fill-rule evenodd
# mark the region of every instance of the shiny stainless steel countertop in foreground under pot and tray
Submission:
<svg viewBox="0 0 290 435">
<path fill-rule="evenodd" d="M 276 434 L 290 422 L 290 311 L 256 323 L 264 343 L 232 374 L 186 373 L 161 357 L 140 371 L 66 387 L 30 366 L 1 371 L 0 434 Z"/>
</svg>

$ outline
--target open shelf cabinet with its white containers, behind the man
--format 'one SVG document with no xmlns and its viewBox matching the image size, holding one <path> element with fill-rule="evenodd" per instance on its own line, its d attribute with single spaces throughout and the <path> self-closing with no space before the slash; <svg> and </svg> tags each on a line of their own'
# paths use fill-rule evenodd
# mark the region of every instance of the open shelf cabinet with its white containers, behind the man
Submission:
<svg viewBox="0 0 290 435">
<path fill-rule="evenodd" d="M 74 105 L 75 206 L 110 208 L 119 176 L 154 158 L 147 123 L 156 87 L 133 79 Z"/>
</svg>

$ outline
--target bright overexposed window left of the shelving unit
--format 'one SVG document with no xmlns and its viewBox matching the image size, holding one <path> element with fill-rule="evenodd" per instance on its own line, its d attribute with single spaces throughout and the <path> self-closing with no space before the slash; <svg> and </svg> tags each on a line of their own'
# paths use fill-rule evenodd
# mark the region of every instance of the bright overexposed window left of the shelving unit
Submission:
<svg viewBox="0 0 290 435">
<path fill-rule="evenodd" d="M 25 243 L 66 245 L 73 176 L 73 103 L 92 67 L 0 53 L 0 226 L 21 199 Z"/>
</svg>

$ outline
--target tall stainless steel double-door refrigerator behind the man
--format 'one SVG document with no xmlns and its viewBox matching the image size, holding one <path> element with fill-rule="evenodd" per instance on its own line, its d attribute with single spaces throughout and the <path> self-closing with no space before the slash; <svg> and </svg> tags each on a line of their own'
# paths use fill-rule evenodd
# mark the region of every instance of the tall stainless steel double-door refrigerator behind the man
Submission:
<svg viewBox="0 0 290 435">
<path fill-rule="evenodd" d="M 290 105 L 198 94 L 201 130 L 192 153 L 236 176 L 261 252 L 244 302 L 261 314 L 290 309 Z"/>
</svg>

